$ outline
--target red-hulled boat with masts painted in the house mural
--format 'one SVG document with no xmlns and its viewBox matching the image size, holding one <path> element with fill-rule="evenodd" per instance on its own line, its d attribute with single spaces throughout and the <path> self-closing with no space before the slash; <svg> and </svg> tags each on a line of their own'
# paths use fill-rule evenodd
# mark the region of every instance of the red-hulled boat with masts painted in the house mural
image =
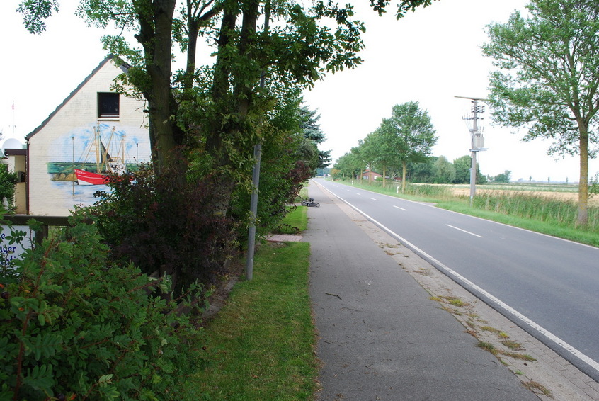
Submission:
<svg viewBox="0 0 599 401">
<path fill-rule="evenodd" d="M 90 162 L 94 159 L 95 166 Z M 97 128 L 93 128 L 93 137 L 81 156 L 79 166 L 80 169 L 74 169 L 79 185 L 103 185 L 108 182 L 108 174 L 126 173 L 125 135 L 116 134 L 113 127 L 110 135 L 103 139 L 98 123 Z"/>
</svg>

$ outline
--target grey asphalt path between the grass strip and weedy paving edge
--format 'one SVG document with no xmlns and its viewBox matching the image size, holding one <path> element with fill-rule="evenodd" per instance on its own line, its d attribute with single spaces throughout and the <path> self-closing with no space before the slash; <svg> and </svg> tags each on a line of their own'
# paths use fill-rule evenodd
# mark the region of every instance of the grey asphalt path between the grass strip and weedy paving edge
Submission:
<svg viewBox="0 0 599 401">
<path fill-rule="evenodd" d="M 318 400 L 538 401 L 455 317 L 311 184 Z"/>
</svg>

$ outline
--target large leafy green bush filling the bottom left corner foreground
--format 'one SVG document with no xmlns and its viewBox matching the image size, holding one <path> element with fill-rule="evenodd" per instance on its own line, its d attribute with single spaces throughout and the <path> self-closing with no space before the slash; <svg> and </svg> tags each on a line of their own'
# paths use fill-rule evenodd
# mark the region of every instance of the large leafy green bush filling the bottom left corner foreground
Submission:
<svg viewBox="0 0 599 401">
<path fill-rule="evenodd" d="M 200 332 L 155 294 L 169 279 L 108 266 L 73 223 L 0 276 L 0 400 L 181 400 Z"/>
</svg>

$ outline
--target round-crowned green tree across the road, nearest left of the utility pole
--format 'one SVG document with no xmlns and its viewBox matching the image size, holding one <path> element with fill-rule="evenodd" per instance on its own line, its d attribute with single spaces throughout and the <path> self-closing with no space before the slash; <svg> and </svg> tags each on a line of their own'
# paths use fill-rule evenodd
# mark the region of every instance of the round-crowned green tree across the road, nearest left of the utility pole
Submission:
<svg viewBox="0 0 599 401">
<path fill-rule="evenodd" d="M 428 111 L 421 110 L 417 101 L 398 104 L 379 130 L 393 140 L 392 148 L 401 164 L 401 191 L 405 191 L 407 164 L 426 160 L 437 142 Z"/>
</svg>

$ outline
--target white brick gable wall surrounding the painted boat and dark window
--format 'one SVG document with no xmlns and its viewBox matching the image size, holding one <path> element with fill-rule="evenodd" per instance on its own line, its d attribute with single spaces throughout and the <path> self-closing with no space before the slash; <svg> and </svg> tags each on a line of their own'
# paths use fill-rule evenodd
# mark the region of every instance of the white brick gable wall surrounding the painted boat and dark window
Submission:
<svg viewBox="0 0 599 401">
<path fill-rule="evenodd" d="M 126 135 L 127 162 L 149 162 L 143 101 L 120 95 L 119 117 L 98 118 L 98 92 L 110 92 L 113 80 L 121 73 L 122 69 L 108 60 L 86 78 L 37 132 L 28 135 L 30 215 L 66 216 L 74 205 L 91 205 L 97 200 L 93 197 L 96 191 L 109 191 L 105 185 L 79 186 L 72 173 L 73 167 L 80 168 L 79 163 L 86 161 L 84 153 L 94 129 L 99 128 L 103 135 L 113 130 Z M 87 162 L 95 162 L 95 154 L 89 156 Z"/>
</svg>

